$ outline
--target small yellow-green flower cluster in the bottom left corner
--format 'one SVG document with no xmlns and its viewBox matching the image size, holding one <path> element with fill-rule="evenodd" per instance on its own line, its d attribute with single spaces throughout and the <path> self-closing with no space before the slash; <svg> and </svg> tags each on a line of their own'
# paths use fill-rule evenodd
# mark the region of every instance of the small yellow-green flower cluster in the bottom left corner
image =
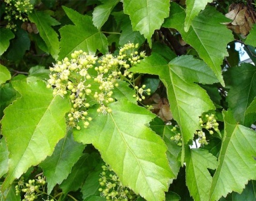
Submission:
<svg viewBox="0 0 256 201">
<path fill-rule="evenodd" d="M 16 195 L 21 192 L 25 193 L 22 201 L 37 200 L 38 196 L 44 192 L 45 184 L 45 178 L 41 176 L 37 179 L 30 179 L 28 182 L 24 182 L 24 177 L 21 177 L 18 181 L 18 185 L 15 186 Z"/>
</svg>

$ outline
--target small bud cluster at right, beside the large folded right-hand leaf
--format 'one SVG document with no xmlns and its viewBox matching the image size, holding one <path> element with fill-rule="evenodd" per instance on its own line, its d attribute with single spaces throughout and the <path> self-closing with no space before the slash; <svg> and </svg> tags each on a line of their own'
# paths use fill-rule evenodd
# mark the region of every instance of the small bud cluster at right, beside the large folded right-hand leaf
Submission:
<svg viewBox="0 0 256 201">
<path fill-rule="evenodd" d="M 198 135 L 199 143 L 204 146 L 209 144 L 209 140 L 206 140 L 205 132 L 203 129 L 209 132 L 209 134 L 213 135 L 214 131 L 219 131 L 219 123 L 217 123 L 216 116 L 214 114 L 205 114 L 199 118 L 200 126 L 202 130 L 196 131 L 194 134 Z"/>
</svg>

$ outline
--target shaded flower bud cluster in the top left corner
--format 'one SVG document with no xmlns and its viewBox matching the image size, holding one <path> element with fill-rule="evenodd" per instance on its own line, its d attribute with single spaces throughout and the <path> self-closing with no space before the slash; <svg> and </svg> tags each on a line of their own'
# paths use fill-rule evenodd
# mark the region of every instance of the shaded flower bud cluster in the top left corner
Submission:
<svg viewBox="0 0 256 201">
<path fill-rule="evenodd" d="M 31 4 L 31 0 L 4 0 L 4 2 L 6 4 L 4 19 L 8 22 L 6 28 L 16 31 L 17 25 L 13 19 L 27 22 L 27 14 L 32 12 L 34 5 Z"/>
</svg>

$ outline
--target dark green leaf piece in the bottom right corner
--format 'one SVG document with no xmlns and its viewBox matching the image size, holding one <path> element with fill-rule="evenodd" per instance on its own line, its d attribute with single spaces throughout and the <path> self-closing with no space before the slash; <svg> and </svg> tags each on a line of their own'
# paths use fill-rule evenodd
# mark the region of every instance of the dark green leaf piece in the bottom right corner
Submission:
<svg viewBox="0 0 256 201">
<path fill-rule="evenodd" d="M 232 193 L 232 200 L 240 201 L 240 200 L 250 200 L 256 201 L 256 181 L 249 181 L 245 186 L 243 193 Z"/>
</svg>

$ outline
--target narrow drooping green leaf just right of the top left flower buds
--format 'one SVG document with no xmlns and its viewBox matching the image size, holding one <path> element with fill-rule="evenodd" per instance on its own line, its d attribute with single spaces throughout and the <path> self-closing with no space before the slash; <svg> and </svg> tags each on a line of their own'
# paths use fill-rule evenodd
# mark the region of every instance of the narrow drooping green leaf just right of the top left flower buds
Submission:
<svg viewBox="0 0 256 201">
<path fill-rule="evenodd" d="M 31 22 L 36 23 L 40 37 L 42 37 L 46 43 L 50 54 L 55 60 L 57 60 L 60 46 L 58 38 L 59 36 L 51 26 L 56 26 L 60 23 L 45 11 L 34 10 L 33 13 L 28 14 L 28 18 Z"/>
</svg>

